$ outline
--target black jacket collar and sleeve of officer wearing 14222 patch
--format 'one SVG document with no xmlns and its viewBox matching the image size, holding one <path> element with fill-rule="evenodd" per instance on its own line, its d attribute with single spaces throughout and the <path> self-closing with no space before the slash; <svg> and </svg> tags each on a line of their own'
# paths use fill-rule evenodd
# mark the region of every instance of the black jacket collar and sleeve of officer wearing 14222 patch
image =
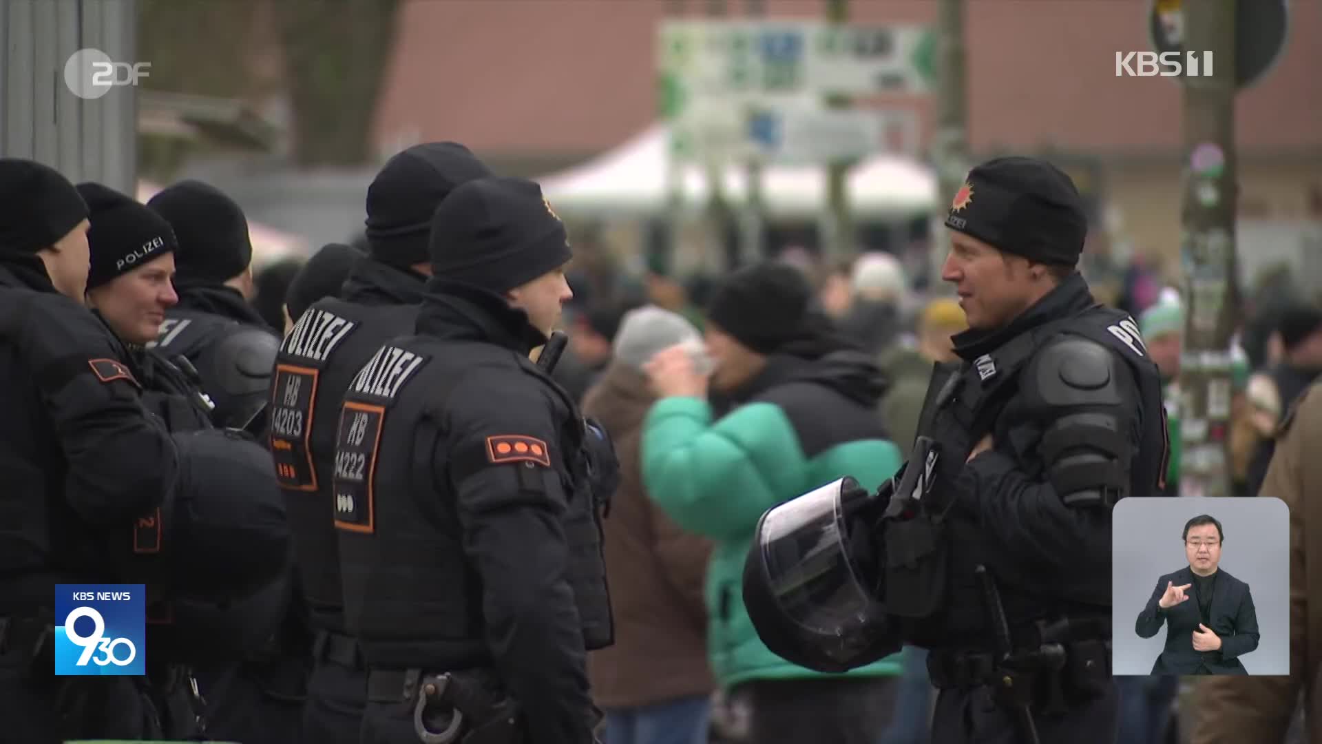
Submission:
<svg viewBox="0 0 1322 744">
<path fill-rule="evenodd" d="M 449 436 L 438 455 L 448 461 L 464 552 L 481 577 L 488 650 L 524 707 L 527 731 L 538 741 L 591 741 L 584 637 L 559 506 L 568 494 L 558 478 L 525 483 L 529 473 L 538 471 L 516 467 L 522 463 L 492 465 L 483 454 L 488 437 L 508 434 L 568 451 L 574 445 L 562 432 L 579 414 L 567 393 L 526 364 L 545 336 L 497 295 L 432 279 L 418 334 L 490 344 L 493 359 L 502 359 L 483 360 L 480 375 L 465 375 L 451 391 L 444 409 Z M 542 495 L 534 492 L 538 488 Z"/>
</svg>

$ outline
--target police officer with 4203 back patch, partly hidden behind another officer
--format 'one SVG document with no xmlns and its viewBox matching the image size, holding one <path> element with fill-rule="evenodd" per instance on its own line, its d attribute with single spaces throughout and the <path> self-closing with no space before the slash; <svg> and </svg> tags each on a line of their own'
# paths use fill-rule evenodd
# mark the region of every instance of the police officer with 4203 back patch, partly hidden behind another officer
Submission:
<svg viewBox="0 0 1322 744">
<path fill-rule="evenodd" d="M 290 287 L 290 314 L 297 322 L 280 344 L 272 376 L 270 449 L 288 496 L 315 633 L 315 666 L 303 712 L 303 735 L 309 741 L 356 743 L 366 692 L 362 653 L 345 629 L 340 551 L 332 524 L 340 402 L 381 344 L 412 328 L 418 319 L 431 274 L 427 234 L 436 207 L 456 185 L 488 175 L 461 144 L 426 143 L 399 152 L 368 188 L 370 257 L 354 261 L 342 299 L 300 306 L 305 287 L 320 281 L 303 271 Z M 320 257 L 309 259 L 304 271 L 334 269 L 323 266 Z"/>
</svg>

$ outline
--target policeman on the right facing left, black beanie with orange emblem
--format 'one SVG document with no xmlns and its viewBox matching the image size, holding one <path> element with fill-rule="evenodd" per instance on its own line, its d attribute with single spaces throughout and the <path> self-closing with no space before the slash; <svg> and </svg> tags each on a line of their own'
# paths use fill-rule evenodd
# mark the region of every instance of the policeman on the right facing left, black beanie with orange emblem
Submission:
<svg viewBox="0 0 1322 744">
<path fill-rule="evenodd" d="M 1099 306 L 1075 270 L 1087 218 L 1063 172 L 984 163 L 945 225 L 941 278 L 969 330 L 882 488 L 878 544 L 851 556 L 884 597 L 888 626 L 873 630 L 931 650 L 937 744 L 1110 743 L 1110 508 L 1163 486 L 1157 368 L 1134 320 Z M 771 543 L 788 545 L 785 515 L 764 516 L 764 567 Z"/>
</svg>

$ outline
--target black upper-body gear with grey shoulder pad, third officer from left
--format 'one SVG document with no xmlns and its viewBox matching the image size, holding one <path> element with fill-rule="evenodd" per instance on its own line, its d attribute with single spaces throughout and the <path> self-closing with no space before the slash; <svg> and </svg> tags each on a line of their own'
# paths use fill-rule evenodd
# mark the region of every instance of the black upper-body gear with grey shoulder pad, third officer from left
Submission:
<svg viewBox="0 0 1322 744">
<path fill-rule="evenodd" d="M 266 405 L 278 346 L 264 328 L 178 308 L 165 314 L 156 340 L 147 344 L 165 356 L 186 357 L 215 406 L 212 421 L 237 429 L 249 428 Z"/>
</svg>

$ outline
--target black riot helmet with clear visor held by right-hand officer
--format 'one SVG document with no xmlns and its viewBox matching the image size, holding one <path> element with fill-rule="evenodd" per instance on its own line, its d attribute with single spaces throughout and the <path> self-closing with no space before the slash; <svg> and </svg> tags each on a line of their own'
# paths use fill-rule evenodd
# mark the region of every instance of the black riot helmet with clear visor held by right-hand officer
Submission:
<svg viewBox="0 0 1322 744">
<path fill-rule="evenodd" d="M 743 598 L 775 654 L 842 673 L 900 650 L 878 598 L 884 593 L 874 532 L 884 507 L 846 477 L 761 515 L 744 563 Z"/>
</svg>

